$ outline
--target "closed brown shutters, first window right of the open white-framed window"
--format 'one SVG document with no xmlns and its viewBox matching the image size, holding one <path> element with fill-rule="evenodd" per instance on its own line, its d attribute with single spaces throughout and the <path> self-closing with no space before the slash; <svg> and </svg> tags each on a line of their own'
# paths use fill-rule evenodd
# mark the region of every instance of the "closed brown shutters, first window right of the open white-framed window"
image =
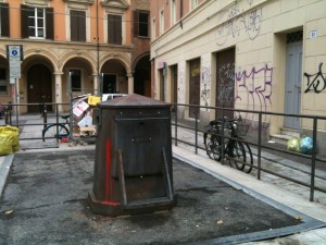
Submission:
<svg viewBox="0 0 326 245">
<path fill-rule="evenodd" d="M 86 13 L 71 10 L 71 40 L 86 41 Z"/>
</svg>

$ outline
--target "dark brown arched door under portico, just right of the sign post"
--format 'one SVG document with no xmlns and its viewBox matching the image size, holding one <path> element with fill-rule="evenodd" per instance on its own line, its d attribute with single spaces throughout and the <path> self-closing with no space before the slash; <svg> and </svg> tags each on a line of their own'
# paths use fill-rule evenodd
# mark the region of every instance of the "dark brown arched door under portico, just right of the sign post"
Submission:
<svg viewBox="0 0 326 245">
<path fill-rule="evenodd" d="M 43 64 L 35 64 L 27 71 L 27 101 L 38 103 L 28 106 L 28 112 L 40 112 L 40 103 L 52 102 L 52 76 Z M 52 107 L 47 107 L 52 111 Z"/>
</svg>

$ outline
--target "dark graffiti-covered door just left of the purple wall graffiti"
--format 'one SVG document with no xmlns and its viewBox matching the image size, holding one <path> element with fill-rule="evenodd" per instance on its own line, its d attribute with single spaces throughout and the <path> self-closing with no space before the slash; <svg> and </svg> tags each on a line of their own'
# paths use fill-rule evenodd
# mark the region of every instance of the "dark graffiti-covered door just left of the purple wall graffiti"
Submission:
<svg viewBox="0 0 326 245">
<path fill-rule="evenodd" d="M 235 108 L 235 48 L 216 53 L 216 107 Z M 216 119 L 234 118 L 233 111 L 217 110 Z"/>
</svg>

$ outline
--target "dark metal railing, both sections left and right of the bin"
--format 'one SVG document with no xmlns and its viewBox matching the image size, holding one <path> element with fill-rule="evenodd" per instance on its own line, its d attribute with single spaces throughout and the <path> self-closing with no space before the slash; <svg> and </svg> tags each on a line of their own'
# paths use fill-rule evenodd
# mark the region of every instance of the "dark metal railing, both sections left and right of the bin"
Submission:
<svg viewBox="0 0 326 245">
<path fill-rule="evenodd" d="M 71 120 L 70 120 L 70 130 L 72 131 L 72 127 L 74 126 L 73 124 L 73 115 L 72 115 L 72 110 L 68 110 L 70 108 L 70 103 L 8 103 L 8 105 L 2 105 L 4 107 L 3 110 L 3 115 L 4 115 L 4 125 L 12 125 L 12 126 L 17 126 L 18 128 L 25 127 L 25 126 L 33 126 L 33 125 L 39 125 L 40 126 L 40 131 L 42 128 L 45 128 L 46 125 L 48 125 L 48 119 L 51 118 L 53 121 L 54 118 L 54 123 L 59 123 L 60 122 L 60 115 L 61 114 L 66 114 L 70 113 L 71 114 Z M 21 113 L 16 113 L 20 107 L 28 107 L 28 106 L 37 106 L 40 108 L 40 115 L 42 118 L 42 121 L 39 123 L 26 123 L 23 119 L 24 119 L 24 114 Z M 52 107 L 52 111 L 48 112 L 47 108 Z M 60 112 L 59 107 L 63 108 L 65 107 L 67 110 L 65 110 L 64 112 Z M 185 115 L 179 115 L 178 111 L 179 109 L 185 109 L 185 108 L 192 108 L 196 110 L 195 113 L 195 118 L 189 120 L 185 120 Z M 23 109 L 22 109 L 23 110 Z M 22 111 L 21 110 L 21 111 Z M 252 139 L 252 138 L 247 138 L 244 137 L 244 140 L 252 147 L 255 149 L 255 156 L 256 156 L 256 161 L 254 162 L 253 169 L 256 170 L 256 177 L 258 180 L 262 179 L 262 172 L 268 173 L 268 174 L 273 174 L 275 176 L 294 182 L 297 184 L 306 186 L 310 188 L 310 200 L 313 201 L 314 200 L 314 191 L 319 191 L 323 193 L 326 193 L 326 187 L 324 186 L 318 186 L 315 183 L 315 177 L 316 177 L 316 170 L 318 170 L 318 168 L 316 168 L 316 164 L 322 163 L 325 167 L 325 171 L 326 171 L 326 160 L 321 158 L 317 155 L 317 136 L 318 136 L 318 131 L 317 131 L 317 125 L 319 121 L 326 121 L 326 117 L 317 117 L 317 115 L 300 115 L 300 114 L 285 114 L 285 113 L 275 113 L 275 112 L 263 112 L 263 111 L 250 111 L 250 110 L 236 110 L 236 109 L 226 109 L 226 108 L 217 108 L 217 107 L 203 107 L 203 106 L 195 106 L 195 105 L 183 105 L 183 103 L 174 103 L 174 112 L 173 112 L 173 117 L 172 117 L 172 126 L 174 126 L 174 143 L 177 146 L 178 143 L 183 143 L 186 144 L 190 147 L 193 147 L 195 152 L 198 154 L 199 150 L 204 150 L 205 148 L 203 146 L 202 143 L 202 137 L 200 138 L 200 136 L 205 133 L 204 131 L 204 125 L 203 123 L 200 121 L 200 113 L 203 113 L 203 111 L 206 112 L 206 114 L 210 114 L 210 110 L 214 110 L 215 112 L 218 111 L 220 114 L 222 113 L 222 115 L 224 113 L 226 113 L 227 111 L 233 111 L 234 113 L 247 113 L 247 114 L 251 114 L 254 115 L 253 118 L 255 119 L 256 122 L 256 138 Z M 180 110 L 183 111 L 183 110 Z M 184 110 L 185 111 L 185 110 Z M 275 147 L 271 147 L 271 145 L 265 144 L 265 142 L 263 140 L 264 138 L 264 121 L 263 118 L 266 117 L 291 117 L 291 118 L 300 118 L 300 119 L 309 119 L 312 120 L 312 138 L 313 138 L 313 150 L 311 155 L 302 155 L 302 154 L 297 154 L 297 152 L 292 152 L 292 151 L 288 151 L 286 149 L 279 149 L 279 148 L 275 148 Z M 242 117 L 243 119 L 246 119 L 246 117 Z M 190 122 L 190 124 L 189 124 Z M 209 122 L 209 120 L 206 120 L 206 122 Z M 53 123 L 53 122 L 52 122 Z M 179 135 L 179 131 L 180 128 L 185 128 L 187 131 L 189 131 L 190 135 L 192 135 L 193 137 L 190 137 L 190 140 L 185 140 L 181 139 L 178 135 Z M 73 136 L 73 134 L 71 134 Z M 269 136 L 269 135 L 268 135 Z M 42 139 L 42 137 L 20 137 L 20 140 L 28 140 L 28 139 Z M 59 139 L 57 139 L 57 142 L 59 142 Z M 325 143 L 326 144 L 326 143 Z M 285 154 L 288 158 L 294 157 L 294 158 L 301 158 L 304 159 L 306 161 L 310 162 L 310 171 L 309 171 L 309 175 L 310 175 L 310 181 L 309 182 L 304 182 L 302 180 L 300 180 L 300 177 L 294 177 L 294 176 L 288 176 L 281 172 L 276 172 L 273 171 L 264 166 L 262 166 L 262 151 L 263 150 L 269 150 L 269 151 L 276 151 L 277 154 Z M 223 154 L 223 152 L 222 152 Z M 224 157 L 222 157 L 222 159 L 224 159 Z M 224 163 L 222 161 L 222 163 Z M 244 162 L 246 164 L 246 162 Z M 319 164 L 321 166 L 321 164 Z M 326 180 L 325 180 L 326 181 Z"/>
</svg>

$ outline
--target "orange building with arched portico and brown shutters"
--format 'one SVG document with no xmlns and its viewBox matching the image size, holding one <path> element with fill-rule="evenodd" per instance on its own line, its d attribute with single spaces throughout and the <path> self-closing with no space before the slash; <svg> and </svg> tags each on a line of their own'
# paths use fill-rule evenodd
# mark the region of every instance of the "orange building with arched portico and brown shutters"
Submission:
<svg viewBox="0 0 326 245">
<path fill-rule="evenodd" d="M 143 72 L 150 69 L 149 16 L 149 0 L 0 0 L 0 102 L 151 96 L 150 72 Z M 10 78 L 10 46 L 22 47 L 17 79 Z"/>
</svg>

